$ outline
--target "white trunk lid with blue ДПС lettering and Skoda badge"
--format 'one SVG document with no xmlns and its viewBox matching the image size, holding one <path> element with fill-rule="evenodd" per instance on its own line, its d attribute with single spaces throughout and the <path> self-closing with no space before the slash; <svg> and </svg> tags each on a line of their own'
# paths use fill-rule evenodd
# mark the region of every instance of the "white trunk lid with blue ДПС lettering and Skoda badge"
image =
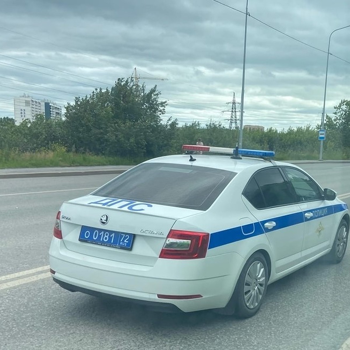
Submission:
<svg viewBox="0 0 350 350">
<path fill-rule="evenodd" d="M 159 204 L 88 195 L 65 202 L 61 208 L 63 242 L 68 250 L 107 260 L 153 266 L 177 219 L 202 211 Z M 106 222 L 107 221 L 107 222 Z M 97 242 L 81 241 L 99 235 Z M 106 232 L 134 235 L 131 249 L 108 246 Z M 120 236 L 121 237 L 121 236 Z M 108 243 L 107 243 L 108 244 Z"/>
</svg>

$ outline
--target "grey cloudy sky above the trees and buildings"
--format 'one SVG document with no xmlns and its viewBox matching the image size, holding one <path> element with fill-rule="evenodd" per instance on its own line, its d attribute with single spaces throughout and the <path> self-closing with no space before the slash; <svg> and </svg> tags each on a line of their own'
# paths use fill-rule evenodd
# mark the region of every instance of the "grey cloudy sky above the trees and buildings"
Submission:
<svg viewBox="0 0 350 350">
<path fill-rule="evenodd" d="M 221 2 L 234 9 L 215 0 L 2 0 L 0 117 L 13 117 L 23 93 L 64 106 L 137 67 L 167 100 L 164 120 L 228 126 L 233 92 L 239 117 L 246 0 Z M 249 0 L 248 12 L 243 124 L 316 126 L 329 35 L 350 25 L 350 1 Z M 332 35 L 330 52 L 328 114 L 350 99 L 350 27 Z"/>
</svg>

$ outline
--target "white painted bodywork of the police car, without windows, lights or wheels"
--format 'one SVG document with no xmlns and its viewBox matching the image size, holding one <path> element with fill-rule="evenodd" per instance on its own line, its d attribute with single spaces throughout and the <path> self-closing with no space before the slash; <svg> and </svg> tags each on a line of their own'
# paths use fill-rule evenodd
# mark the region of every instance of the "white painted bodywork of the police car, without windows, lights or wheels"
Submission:
<svg viewBox="0 0 350 350">
<path fill-rule="evenodd" d="M 272 283 L 331 249 L 336 229 L 344 215 L 348 215 L 342 201 L 313 201 L 258 210 L 242 195 L 248 179 L 257 170 L 287 163 L 197 154 L 195 158 L 193 167 L 237 173 L 207 210 L 95 195 L 65 202 L 60 209 L 63 239 L 52 238 L 49 250 L 54 278 L 128 299 L 171 303 L 189 312 L 225 307 L 245 262 L 256 251 L 264 251 L 269 257 L 268 282 Z M 188 159 L 188 155 L 175 155 L 146 163 L 189 165 Z M 319 217 L 303 219 L 310 210 Z M 99 222 L 104 214 L 110 218 L 106 225 Z M 293 215 L 304 221 L 293 224 L 288 221 Z M 287 220 L 287 224 L 281 228 L 264 226 L 266 221 L 279 224 L 282 220 Z M 79 241 L 82 225 L 132 233 L 135 235 L 132 250 Z M 205 258 L 159 258 L 170 230 L 208 232 Z M 317 230 L 321 230 L 318 236 Z M 157 294 L 202 297 L 175 300 L 161 299 Z"/>
</svg>

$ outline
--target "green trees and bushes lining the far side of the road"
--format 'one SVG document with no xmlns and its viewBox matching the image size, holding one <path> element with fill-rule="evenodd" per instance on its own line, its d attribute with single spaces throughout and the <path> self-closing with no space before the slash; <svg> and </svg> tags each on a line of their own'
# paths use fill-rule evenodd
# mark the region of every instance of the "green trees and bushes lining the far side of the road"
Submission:
<svg viewBox="0 0 350 350">
<path fill-rule="evenodd" d="M 64 118 L 45 120 L 38 115 L 20 125 L 12 118 L 1 118 L 0 150 L 37 152 L 59 147 L 67 152 L 146 159 L 179 153 L 183 144 L 194 144 L 198 138 L 205 145 L 236 146 L 238 131 L 221 123 L 179 126 L 176 119 L 162 121 L 166 102 L 160 95 L 157 86 L 146 91 L 145 85 L 119 78 L 111 89 L 95 89 L 89 96 L 76 97 L 74 103 L 67 104 Z M 315 158 L 319 128 L 244 130 L 243 147 L 275 151 L 276 158 Z M 325 158 L 349 159 L 350 100 L 342 100 L 334 115 L 326 116 L 325 129 Z"/>
</svg>

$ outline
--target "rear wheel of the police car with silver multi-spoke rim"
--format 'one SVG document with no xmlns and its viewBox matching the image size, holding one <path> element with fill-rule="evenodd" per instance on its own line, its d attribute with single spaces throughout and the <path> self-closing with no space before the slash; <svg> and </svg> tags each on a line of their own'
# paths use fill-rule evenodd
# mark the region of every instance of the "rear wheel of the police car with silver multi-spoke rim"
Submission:
<svg viewBox="0 0 350 350">
<path fill-rule="evenodd" d="M 235 314 L 239 318 L 254 316 L 264 299 L 268 282 L 268 267 L 264 255 L 254 253 L 245 263 L 233 296 L 236 299 Z"/>
</svg>

